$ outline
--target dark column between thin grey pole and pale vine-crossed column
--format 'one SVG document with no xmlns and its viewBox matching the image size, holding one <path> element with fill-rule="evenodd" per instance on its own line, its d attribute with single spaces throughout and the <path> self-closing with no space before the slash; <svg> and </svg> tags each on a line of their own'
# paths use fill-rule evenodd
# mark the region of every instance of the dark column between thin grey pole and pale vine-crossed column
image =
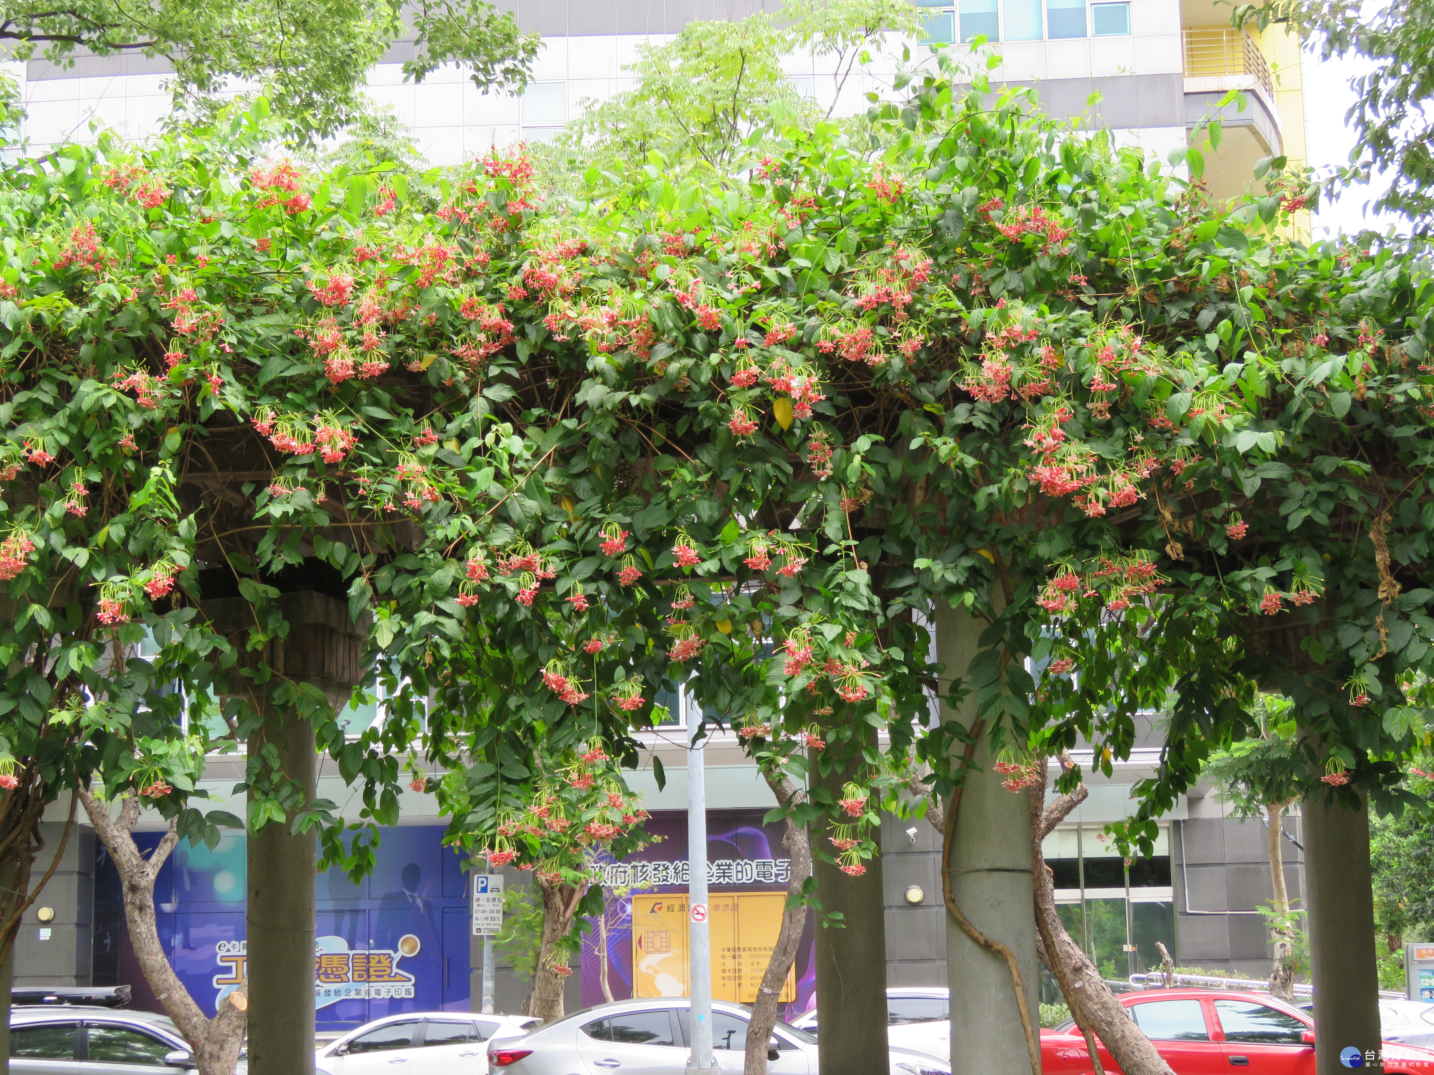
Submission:
<svg viewBox="0 0 1434 1075">
<path fill-rule="evenodd" d="M 860 775 L 859 760 L 820 774 L 812 755 L 812 784 L 832 801 L 842 785 Z M 816 1008 L 819 1066 L 842 1075 L 888 1075 L 886 1046 L 886 906 L 882 894 L 880 850 L 866 873 L 849 877 L 836 863 L 816 859 L 822 914 L 840 914 L 816 930 Z"/>
</svg>

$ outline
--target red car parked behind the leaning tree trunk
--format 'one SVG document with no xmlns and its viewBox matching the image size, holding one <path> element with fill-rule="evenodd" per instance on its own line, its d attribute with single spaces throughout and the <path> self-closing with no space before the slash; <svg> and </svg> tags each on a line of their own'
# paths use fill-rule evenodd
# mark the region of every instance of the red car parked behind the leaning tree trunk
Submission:
<svg viewBox="0 0 1434 1075">
<path fill-rule="evenodd" d="M 1315 1026 L 1309 1015 L 1266 993 L 1215 989 L 1150 989 L 1124 993 L 1136 1025 L 1154 1042 L 1176 1075 L 1315 1075 Z M 1100 1046 L 1107 1072 L 1116 1061 Z M 1074 1023 L 1041 1031 L 1045 1075 L 1094 1071 L 1086 1038 Z M 1384 1075 L 1430 1075 L 1434 1049 L 1384 1043 Z"/>
</svg>

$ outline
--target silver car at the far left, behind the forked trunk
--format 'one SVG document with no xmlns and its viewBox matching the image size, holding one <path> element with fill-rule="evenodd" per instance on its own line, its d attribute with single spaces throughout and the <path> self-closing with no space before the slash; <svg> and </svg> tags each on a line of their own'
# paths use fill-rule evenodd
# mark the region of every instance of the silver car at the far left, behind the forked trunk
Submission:
<svg viewBox="0 0 1434 1075">
<path fill-rule="evenodd" d="M 165 1015 L 85 1005 L 10 1009 L 10 1075 L 179 1075 L 194 1066 Z M 247 1071 L 241 1059 L 238 1072 Z"/>
</svg>

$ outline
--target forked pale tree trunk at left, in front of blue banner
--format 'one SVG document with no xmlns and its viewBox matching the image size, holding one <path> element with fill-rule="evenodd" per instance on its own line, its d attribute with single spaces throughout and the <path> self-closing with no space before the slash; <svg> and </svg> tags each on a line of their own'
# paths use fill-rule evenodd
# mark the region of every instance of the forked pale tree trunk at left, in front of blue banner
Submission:
<svg viewBox="0 0 1434 1075">
<path fill-rule="evenodd" d="M 169 823 L 169 831 L 146 860 L 133 837 L 141 814 L 138 798 L 125 796 L 118 818 L 112 816 L 109 803 L 95 798 L 89 791 L 80 791 L 80 801 L 85 803 L 85 813 L 89 814 L 95 833 L 119 871 L 125 893 L 125 924 L 129 926 L 129 940 L 145 980 L 155 990 L 165 1013 L 179 1028 L 179 1033 L 189 1042 L 199 1065 L 199 1075 L 234 1075 L 244 1036 L 248 982 L 229 995 L 229 998 L 238 996 L 237 1002 L 227 998 L 214 1019 L 205 1018 L 171 966 L 155 924 L 155 879 L 179 841 L 175 821 Z"/>
</svg>

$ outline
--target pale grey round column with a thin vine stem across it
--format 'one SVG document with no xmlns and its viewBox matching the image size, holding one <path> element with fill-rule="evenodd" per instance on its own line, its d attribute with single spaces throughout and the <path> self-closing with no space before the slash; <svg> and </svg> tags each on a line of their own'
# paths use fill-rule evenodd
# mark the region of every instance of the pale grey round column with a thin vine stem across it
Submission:
<svg viewBox="0 0 1434 1075">
<path fill-rule="evenodd" d="M 965 678 L 984 624 L 951 609 L 936 611 L 936 659 L 942 688 Z M 959 712 L 942 704 L 942 720 L 975 720 L 975 697 Z M 981 933 L 1004 942 L 1017 957 L 1031 1018 L 1040 1010 L 1040 963 L 1031 883 L 1031 814 L 1025 794 L 1001 787 L 989 748 L 977 748 L 956 814 L 951 886 L 956 906 Z M 951 985 L 952 1075 L 1030 1075 L 1011 972 L 1002 957 L 977 945 L 946 916 L 946 976 Z"/>
</svg>

